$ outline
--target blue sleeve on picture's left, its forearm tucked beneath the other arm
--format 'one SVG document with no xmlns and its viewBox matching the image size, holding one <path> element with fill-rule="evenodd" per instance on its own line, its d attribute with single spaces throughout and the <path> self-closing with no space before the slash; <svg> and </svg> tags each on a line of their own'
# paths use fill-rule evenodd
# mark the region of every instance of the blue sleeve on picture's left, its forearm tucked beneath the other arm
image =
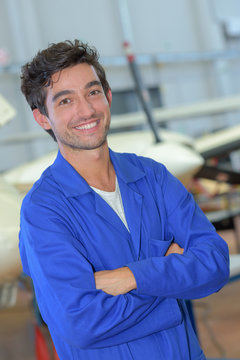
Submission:
<svg viewBox="0 0 240 360">
<path fill-rule="evenodd" d="M 179 324 L 181 314 L 173 301 L 134 291 L 111 296 L 97 290 L 85 247 L 67 226 L 64 216 L 49 207 L 22 206 L 23 269 L 33 280 L 50 331 L 70 345 L 99 348 Z"/>
</svg>

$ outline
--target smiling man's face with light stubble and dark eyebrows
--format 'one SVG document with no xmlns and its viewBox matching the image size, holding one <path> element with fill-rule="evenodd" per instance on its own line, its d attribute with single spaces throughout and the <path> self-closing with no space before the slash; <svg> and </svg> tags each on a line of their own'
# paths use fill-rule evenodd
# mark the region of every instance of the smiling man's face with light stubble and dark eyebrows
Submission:
<svg viewBox="0 0 240 360">
<path fill-rule="evenodd" d="M 44 128 L 53 130 L 60 150 L 99 148 L 110 126 L 111 99 L 93 66 L 83 63 L 56 72 L 47 88 Z"/>
</svg>

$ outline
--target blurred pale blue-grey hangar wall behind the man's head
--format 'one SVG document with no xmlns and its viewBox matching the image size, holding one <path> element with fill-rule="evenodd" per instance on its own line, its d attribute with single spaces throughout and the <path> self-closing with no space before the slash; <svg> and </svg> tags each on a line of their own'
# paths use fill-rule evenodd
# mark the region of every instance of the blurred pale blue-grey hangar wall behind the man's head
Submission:
<svg viewBox="0 0 240 360">
<path fill-rule="evenodd" d="M 238 36 L 227 36 L 227 25 L 240 21 L 238 0 L 128 0 L 135 53 L 168 55 L 165 60 L 140 63 L 147 86 L 160 89 L 162 105 L 188 104 L 240 92 L 236 76 L 240 56 L 217 57 L 239 45 Z M 0 49 L 8 60 L 0 64 L 0 93 L 17 109 L 17 115 L 0 139 L 20 132 L 39 131 L 19 91 L 21 64 L 49 43 L 81 38 L 97 47 L 113 91 L 133 88 L 126 64 L 114 60 L 123 55 L 122 31 L 116 0 L 0 0 Z M 210 60 L 201 54 L 210 52 Z M 194 61 L 190 55 L 195 56 Z M 181 60 L 180 55 L 183 56 Z M 199 55 L 199 60 L 197 56 Z M 186 119 L 169 124 L 175 131 L 197 136 L 204 131 L 238 121 L 236 114 L 218 118 Z M 0 170 L 16 166 L 55 148 L 51 139 L 1 146 Z"/>
</svg>

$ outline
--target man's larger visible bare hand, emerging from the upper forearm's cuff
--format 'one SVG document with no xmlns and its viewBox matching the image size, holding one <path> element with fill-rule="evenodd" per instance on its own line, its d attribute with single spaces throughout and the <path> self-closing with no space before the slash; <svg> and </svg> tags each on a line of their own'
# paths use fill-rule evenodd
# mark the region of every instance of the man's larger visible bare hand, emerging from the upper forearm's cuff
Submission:
<svg viewBox="0 0 240 360">
<path fill-rule="evenodd" d="M 97 271 L 94 277 L 96 289 L 113 296 L 126 294 L 137 288 L 135 277 L 128 267 Z"/>
</svg>

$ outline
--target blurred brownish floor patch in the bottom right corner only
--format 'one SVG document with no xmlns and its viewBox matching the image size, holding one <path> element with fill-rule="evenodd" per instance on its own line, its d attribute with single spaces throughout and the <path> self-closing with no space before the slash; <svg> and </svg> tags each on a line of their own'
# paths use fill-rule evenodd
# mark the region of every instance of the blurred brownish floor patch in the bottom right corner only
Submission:
<svg viewBox="0 0 240 360">
<path fill-rule="evenodd" d="M 199 339 L 210 358 L 240 359 L 240 283 L 194 301 Z"/>
</svg>

